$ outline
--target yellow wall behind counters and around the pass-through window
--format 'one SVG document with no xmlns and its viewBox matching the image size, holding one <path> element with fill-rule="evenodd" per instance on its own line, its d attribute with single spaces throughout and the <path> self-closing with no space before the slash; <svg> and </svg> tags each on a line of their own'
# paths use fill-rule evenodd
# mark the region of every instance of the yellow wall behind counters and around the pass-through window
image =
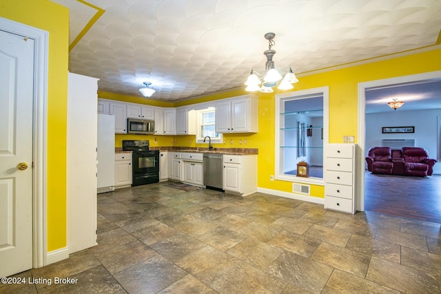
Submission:
<svg viewBox="0 0 441 294">
<path fill-rule="evenodd" d="M 422 72 L 441 70 L 441 50 L 432 50 L 408 56 L 395 57 L 384 61 L 371 61 L 362 65 L 353 65 L 339 70 L 329 70 L 320 74 L 301 76 L 294 90 L 305 90 L 315 87 L 329 86 L 329 143 L 342 143 L 343 136 L 355 136 L 358 141 L 358 83 L 382 78 L 407 76 Z M 286 91 L 285 91 L 286 92 Z M 275 140 L 275 95 L 258 94 L 258 134 L 224 134 L 226 144 L 216 144 L 214 147 L 258 148 L 258 187 L 291 192 L 292 183 L 280 180 L 270 181 L 274 175 L 274 140 Z M 178 101 L 173 106 L 190 105 L 220 98 L 228 98 L 247 94 L 244 90 L 235 90 L 213 94 L 193 100 Z M 121 142 L 126 135 L 120 135 Z M 156 136 L 158 139 L 161 136 Z M 152 138 L 143 137 L 145 140 Z M 247 145 L 240 145 L 239 140 L 247 139 Z M 194 136 L 169 136 L 161 140 L 158 146 L 171 146 L 174 140 L 176 146 L 207 147 L 207 144 L 196 144 Z M 230 144 L 230 140 L 233 143 Z M 121 143 L 119 143 L 121 144 Z M 325 190 L 322 186 L 311 185 L 311 196 L 323 198 Z"/>
</svg>

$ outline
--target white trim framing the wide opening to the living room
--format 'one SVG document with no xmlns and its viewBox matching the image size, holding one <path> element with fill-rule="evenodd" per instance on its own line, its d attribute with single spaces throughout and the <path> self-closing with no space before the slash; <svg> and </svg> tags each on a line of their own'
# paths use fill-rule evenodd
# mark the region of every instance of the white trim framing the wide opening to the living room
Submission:
<svg viewBox="0 0 441 294">
<path fill-rule="evenodd" d="M 366 141 L 366 89 L 370 87 L 381 87 L 400 83 L 411 83 L 416 81 L 441 78 L 441 70 L 425 72 L 424 74 L 411 74 L 409 76 L 398 76 L 396 78 L 384 78 L 382 80 L 358 83 L 358 175 L 357 176 L 357 198 L 356 209 L 365 211 L 365 141 Z"/>
</svg>

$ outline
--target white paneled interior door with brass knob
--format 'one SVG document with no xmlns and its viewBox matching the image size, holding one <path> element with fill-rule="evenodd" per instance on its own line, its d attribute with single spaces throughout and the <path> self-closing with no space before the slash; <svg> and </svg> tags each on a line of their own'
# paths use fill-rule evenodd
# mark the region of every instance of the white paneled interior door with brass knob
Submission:
<svg viewBox="0 0 441 294">
<path fill-rule="evenodd" d="M 32 268 L 34 41 L 0 31 L 0 277 Z"/>
</svg>

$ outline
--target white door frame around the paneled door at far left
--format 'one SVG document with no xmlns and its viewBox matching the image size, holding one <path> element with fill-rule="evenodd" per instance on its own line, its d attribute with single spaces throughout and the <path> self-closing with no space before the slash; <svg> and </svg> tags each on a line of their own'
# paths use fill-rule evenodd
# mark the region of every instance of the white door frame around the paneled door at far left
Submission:
<svg viewBox="0 0 441 294">
<path fill-rule="evenodd" d="M 0 17 L 0 30 L 34 39 L 34 119 L 32 151 L 32 266 L 46 265 L 46 150 L 49 32 Z"/>
</svg>

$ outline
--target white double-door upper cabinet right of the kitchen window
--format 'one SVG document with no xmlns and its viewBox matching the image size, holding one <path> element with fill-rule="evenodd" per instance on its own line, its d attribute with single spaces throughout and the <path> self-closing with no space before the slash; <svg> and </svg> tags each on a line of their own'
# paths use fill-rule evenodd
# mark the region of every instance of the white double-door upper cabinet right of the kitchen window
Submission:
<svg viewBox="0 0 441 294">
<path fill-rule="evenodd" d="M 216 103 L 217 133 L 257 133 L 258 99 L 243 95 Z"/>
</svg>

